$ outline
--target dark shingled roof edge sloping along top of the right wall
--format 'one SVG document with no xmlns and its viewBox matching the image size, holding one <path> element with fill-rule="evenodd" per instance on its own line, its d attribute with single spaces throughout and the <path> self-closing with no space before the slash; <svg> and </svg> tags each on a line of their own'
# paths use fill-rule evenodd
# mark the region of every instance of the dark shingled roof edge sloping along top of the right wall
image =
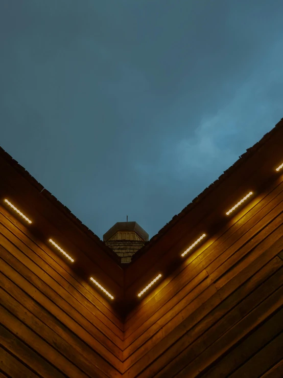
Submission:
<svg viewBox="0 0 283 378">
<path fill-rule="evenodd" d="M 252 147 L 247 148 L 246 152 L 244 152 L 237 161 L 234 162 L 229 168 L 227 168 L 217 180 L 211 183 L 208 187 L 206 187 L 200 194 L 198 194 L 192 202 L 190 202 L 183 210 L 180 211 L 179 214 L 173 216 L 173 218 L 163 226 L 157 234 L 155 234 L 148 242 L 145 243 L 144 247 L 142 247 L 139 251 L 135 253 L 132 257 L 132 262 L 135 262 L 139 257 L 143 256 L 149 248 L 153 246 L 170 228 L 172 228 L 178 221 L 180 221 L 188 212 L 190 212 L 205 196 L 207 196 L 211 191 L 213 191 L 218 185 L 220 185 L 225 179 L 232 174 L 232 172 L 242 165 L 248 158 L 250 158 L 253 153 L 255 153 L 258 149 L 260 149 L 264 143 L 270 139 L 275 132 L 279 129 L 279 127 L 283 127 L 283 118 L 280 119 L 276 125 L 268 131 L 262 139 L 256 142 Z"/>
</svg>

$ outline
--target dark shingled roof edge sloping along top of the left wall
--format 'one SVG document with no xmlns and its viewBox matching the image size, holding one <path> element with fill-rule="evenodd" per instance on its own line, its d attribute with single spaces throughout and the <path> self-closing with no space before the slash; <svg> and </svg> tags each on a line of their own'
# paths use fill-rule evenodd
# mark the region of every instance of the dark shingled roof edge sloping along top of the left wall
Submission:
<svg viewBox="0 0 283 378">
<path fill-rule="evenodd" d="M 76 226 L 79 227 L 87 236 L 94 240 L 118 265 L 121 264 L 121 259 L 115 254 L 114 251 L 108 247 L 93 231 L 85 226 L 82 221 L 76 217 L 65 205 L 63 205 L 50 191 L 43 187 L 22 165 L 20 165 L 11 155 L 0 146 L 0 154 L 3 158 L 16 170 L 21 176 L 33 185 L 48 201 L 51 201 L 59 211 L 62 211 Z M 43 190 L 44 189 L 44 190 Z"/>
</svg>

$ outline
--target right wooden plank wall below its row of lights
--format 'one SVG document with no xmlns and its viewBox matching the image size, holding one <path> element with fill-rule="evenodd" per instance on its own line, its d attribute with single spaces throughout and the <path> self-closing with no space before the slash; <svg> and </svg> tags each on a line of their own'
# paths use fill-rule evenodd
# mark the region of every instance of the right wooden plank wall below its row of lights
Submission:
<svg viewBox="0 0 283 378">
<path fill-rule="evenodd" d="M 128 315 L 123 377 L 282 378 L 283 175 L 258 193 Z"/>
</svg>

